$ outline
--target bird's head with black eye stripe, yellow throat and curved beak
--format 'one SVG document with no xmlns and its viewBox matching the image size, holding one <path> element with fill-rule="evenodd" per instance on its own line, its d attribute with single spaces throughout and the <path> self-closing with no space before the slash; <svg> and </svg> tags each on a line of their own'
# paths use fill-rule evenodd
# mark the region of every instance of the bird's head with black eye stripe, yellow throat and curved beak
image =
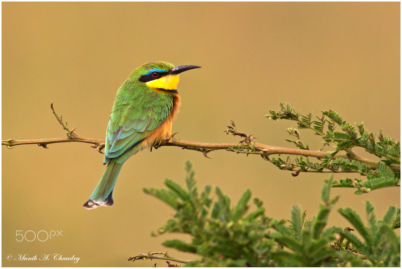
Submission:
<svg viewBox="0 0 402 269">
<path fill-rule="evenodd" d="M 177 66 L 168 62 L 146 63 L 135 69 L 131 74 L 132 80 L 145 83 L 153 90 L 171 90 L 176 92 L 179 81 L 178 74 L 201 66 Z"/>
</svg>

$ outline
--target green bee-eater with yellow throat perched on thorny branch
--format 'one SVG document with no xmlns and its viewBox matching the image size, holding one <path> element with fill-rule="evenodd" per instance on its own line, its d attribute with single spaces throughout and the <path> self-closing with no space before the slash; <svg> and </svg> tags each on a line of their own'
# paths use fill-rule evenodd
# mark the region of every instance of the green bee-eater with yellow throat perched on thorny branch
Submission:
<svg viewBox="0 0 402 269">
<path fill-rule="evenodd" d="M 181 103 L 178 74 L 194 68 L 201 66 L 146 63 L 119 87 L 106 131 L 103 164 L 107 167 L 84 207 L 113 205 L 113 188 L 123 163 L 139 150 L 170 138 Z"/>
</svg>

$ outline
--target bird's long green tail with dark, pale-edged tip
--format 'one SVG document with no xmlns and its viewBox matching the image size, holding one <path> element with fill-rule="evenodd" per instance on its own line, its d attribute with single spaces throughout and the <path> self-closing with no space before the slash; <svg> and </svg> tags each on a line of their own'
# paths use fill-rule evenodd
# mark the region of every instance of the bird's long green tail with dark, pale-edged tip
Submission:
<svg viewBox="0 0 402 269">
<path fill-rule="evenodd" d="M 107 164 L 106 170 L 90 199 L 83 205 L 86 209 L 96 208 L 101 205 L 113 205 L 113 188 L 115 187 L 121 166 L 123 166 L 123 162 L 115 162 L 113 159 Z"/>
</svg>

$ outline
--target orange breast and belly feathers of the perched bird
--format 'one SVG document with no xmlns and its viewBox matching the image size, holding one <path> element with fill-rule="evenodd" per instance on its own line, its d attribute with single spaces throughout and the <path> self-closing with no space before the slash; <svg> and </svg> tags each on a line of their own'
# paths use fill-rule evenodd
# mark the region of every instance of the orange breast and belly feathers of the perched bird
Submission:
<svg viewBox="0 0 402 269">
<path fill-rule="evenodd" d="M 178 94 L 174 94 L 173 106 L 170 111 L 169 116 L 162 122 L 158 127 L 156 127 L 152 133 L 142 141 L 144 147 L 150 148 L 154 144 L 158 144 L 163 140 L 169 139 L 172 134 L 172 121 L 178 113 L 181 101 Z"/>
</svg>

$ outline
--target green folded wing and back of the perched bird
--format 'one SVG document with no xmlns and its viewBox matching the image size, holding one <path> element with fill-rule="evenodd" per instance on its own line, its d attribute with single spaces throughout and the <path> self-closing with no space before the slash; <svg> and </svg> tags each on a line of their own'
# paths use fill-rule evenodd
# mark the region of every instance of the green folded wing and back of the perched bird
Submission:
<svg viewBox="0 0 402 269">
<path fill-rule="evenodd" d="M 129 97 L 118 92 L 106 132 L 104 163 L 129 150 L 135 152 L 134 147 L 169 116 L 172 105 L 170 96 L 153 90 L 137 92 Z"/>
</svg>

